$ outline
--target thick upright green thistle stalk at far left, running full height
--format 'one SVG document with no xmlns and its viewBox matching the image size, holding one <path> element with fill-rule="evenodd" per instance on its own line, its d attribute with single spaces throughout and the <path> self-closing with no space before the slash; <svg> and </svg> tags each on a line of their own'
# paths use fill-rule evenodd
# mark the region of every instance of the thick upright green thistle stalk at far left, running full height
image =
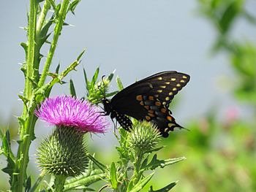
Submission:
<svg viewBox="0 0 256 192">
<path fill-rule="evenodd" d="M 26 80 L 24 88 L 24 97 L 31 103 L 33 84 L 30 79 L 33 79 L 34 74 L 34 51 L 35 51 L 35 38 L 37 26 L 37 0 L 30 0 L 29 9 L 29 29 L 28 29 L 28 56 L 26 58 Z M 21 116 L 23 122 L 20 123 L 20 143 L 18 147 L 17 160 L 15 162 L 15 174 L 12 180 L 12 191 L 23 191 L 23 185 L 26 180 L 26 167 L 29 162 L 29 153 L 23 153 L 24 150 L 29 150 L 29 147 L 24 148 L 31 142 L 29 132 L 27 131 L 31 126 L 31 118 L 29 117 L 29 108 L 24 104 L 23 114 Z M 33 120 L 32 120 L 33 122 Z M 32 127 L 34 131 L 34 127 Z M 27 140 L 27 142 L 26 142 Z"/>
</svg>

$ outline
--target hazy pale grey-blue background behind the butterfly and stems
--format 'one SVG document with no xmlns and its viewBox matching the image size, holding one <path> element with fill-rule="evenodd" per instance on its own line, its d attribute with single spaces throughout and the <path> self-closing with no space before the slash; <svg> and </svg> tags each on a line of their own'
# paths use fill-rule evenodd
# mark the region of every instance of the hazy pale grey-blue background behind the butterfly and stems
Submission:
<svg viewBox="0 0 256 192">
<path fill-rule="evenodd" d="M 236 105 L 227 86 L 233 82 L 233 72 L 227 55 L 211 56 L 216 34 L 198 14 L 197 5 L 197 1 L 189 0 L 83 0 L 75 16 L 67 16 L 67 23 L 73 26 L 64 27 L 51 69 L 54 71 L 59 62 L 64 69 L 86 48 L 78 72 L 71 72 L 65 79 L 69 81 L 72 77 L 78 96 L 84 96 L 86 91 L 83 66 L 89 77 L 97 66 L 100 77 L 116 69 L 124 86 L 157 72 L 176 70 L 191 76 L 191 81 L 176 96 L 178 106 L 173 115 L 179 124 L 186 126 L 210 107 L 218 106 L 220 112 L 225 112 Z M 255 2 L 247 7 L 255 10 Z M 29 1 L 25 0 L 4 1 L 0 7 L 0 115 L 5 121 L 20 115 L 22 109 L 17 94 L 23 91 L 24 80 L 18 63 L 24 61 L 19 44 L 26 42 L 26 33 L 19 27 L 26 26 L 28 9 Z M 256 41 L 255 28 L 249 28 L 244 20 L 238 20 L 234 31 L 233 35 L 240 39 Z M 227 83 L 220 85 L 219 79 Z M 52 93 L 68 94 L 68 85 L 56 85 Z M 238 109 L 243 110 L 243 106 Z"/>
</svg>

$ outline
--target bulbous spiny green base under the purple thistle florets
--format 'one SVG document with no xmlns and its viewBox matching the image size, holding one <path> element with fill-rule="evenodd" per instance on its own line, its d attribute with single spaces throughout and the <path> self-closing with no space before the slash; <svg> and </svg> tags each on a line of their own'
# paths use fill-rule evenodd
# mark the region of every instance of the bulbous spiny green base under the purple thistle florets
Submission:
<svg viewBox="0 0 256 192">
<path fill-rule="evenodd" d="M 49 174 L 75 177 L 85 172 L 89 158 L 83 132 L 73 127 L 57 126 L 38 149 L 38 164 Z"/>
</svg>

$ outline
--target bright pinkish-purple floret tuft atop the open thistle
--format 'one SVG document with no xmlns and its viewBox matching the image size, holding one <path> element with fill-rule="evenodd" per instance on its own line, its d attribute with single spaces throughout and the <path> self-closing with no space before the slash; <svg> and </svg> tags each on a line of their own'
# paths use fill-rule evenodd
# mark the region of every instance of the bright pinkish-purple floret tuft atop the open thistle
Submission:
<svg viewBox="0 0 256 192">
<path fill-rule="evenodd" d="M 72 126 L 83 132 L 104 133 L 109 126 L 97 107 L 72 96 L 45 99 L 35 114 L 49 125 Z"/>
</svg>

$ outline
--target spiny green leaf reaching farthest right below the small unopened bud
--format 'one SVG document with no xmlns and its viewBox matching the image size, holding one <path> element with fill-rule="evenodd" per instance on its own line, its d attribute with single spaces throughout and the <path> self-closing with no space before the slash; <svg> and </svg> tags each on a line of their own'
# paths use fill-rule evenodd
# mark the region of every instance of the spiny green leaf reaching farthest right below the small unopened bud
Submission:
<svg viewBox="0 0 256 192">
<path fill-rule="evenodd" d="M 157 159 L 157 154 L 155 154 L 151 162 L 145 167 L 145 169 L 154 170 L 157 167 L 164 168 L 165 166 L 176 164 L 178 163 L 178 161 L 183 161 L 185 159 L 186 159 L 185 157 L 181 157 L 181 158 L 168 158 L 166 160 L 159 160 Z"/>
</svg>

